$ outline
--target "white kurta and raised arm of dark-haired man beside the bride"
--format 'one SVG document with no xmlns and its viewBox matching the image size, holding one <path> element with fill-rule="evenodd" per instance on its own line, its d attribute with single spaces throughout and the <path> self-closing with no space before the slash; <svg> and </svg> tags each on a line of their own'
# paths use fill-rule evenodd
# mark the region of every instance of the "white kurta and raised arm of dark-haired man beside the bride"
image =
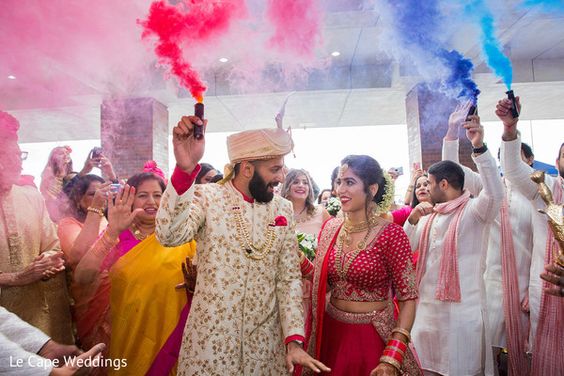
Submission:
<svg viewBox="0 0 564 376">
<path fill-rule="evenodd" d="M 483 132 L 479 124 L 474 126 Z M 481 137 L 483 139 L 483 134 Z M 474 140 L 473 145 L 479 143 L 481 141 Z M 453 214 L 439 214 L 435 218 L 429 229 L 425 265 L 417 266 L 424 267 L 425 273 L 419 285 L 413 343 L 422 368 L 441 375 L 469 376 L 484 372 L 483 274 L 489 228 L 503 200 L 503 185 L 489 151 L 473 154 L 472 159 L 478 167 L 483 190 L 463 209 L 456 234 L 460 302 L 445 302 L 435 297 L 445 234 Z M 430 180 L 432 178 L 430 174 Z M 436 201 L 432 189 L 430 193 Z M 404 225 L 413 250 L 419 248 L 421 233 L 428 219 L 429 216 L 423 216 L 416 225 L 409 221 Z"/>
</svg>

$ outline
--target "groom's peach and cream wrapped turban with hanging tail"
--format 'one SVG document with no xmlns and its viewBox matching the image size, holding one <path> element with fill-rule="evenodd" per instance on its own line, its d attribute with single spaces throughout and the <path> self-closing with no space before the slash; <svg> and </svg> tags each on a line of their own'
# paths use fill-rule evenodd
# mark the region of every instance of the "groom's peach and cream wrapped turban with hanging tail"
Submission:
<svg viewBox="0 0 564 376">
<path fill-rule="evenodd" d="M 235 133 L 227 137 L 230 163 L 225 165 L 223 182 L 233 178 L 233 168 L 239 162 L 282 157 L 293 148 L 292 136 L 279 127 Z"/>
</svg>

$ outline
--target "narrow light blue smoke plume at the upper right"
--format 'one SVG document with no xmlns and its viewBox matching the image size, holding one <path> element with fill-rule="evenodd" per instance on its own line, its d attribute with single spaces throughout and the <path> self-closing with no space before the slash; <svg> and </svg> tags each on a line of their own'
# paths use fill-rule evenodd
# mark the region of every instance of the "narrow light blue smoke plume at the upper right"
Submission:
<svg viewBox="0 0 564 376">
<path fill-rule="evenodd" d="M 486 64 L 495 75 L 502 79 L 507 89 L 511 89 L 513 82 L 513 67 L 511 61 L 503 54 L 501 44 L 495 35 L 494 17 L 483 0 L 474 0 L 466 7 L 465 12 L 477 18 L 481 29 L 482 53 Z"/>
</svg>

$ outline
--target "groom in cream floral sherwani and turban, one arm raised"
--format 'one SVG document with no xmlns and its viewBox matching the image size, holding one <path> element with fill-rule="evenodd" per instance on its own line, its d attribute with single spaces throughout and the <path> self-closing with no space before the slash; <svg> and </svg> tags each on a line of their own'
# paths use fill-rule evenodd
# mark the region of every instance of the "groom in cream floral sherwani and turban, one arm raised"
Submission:
<svg viewBox="0 0 564 376">
<path fill-rule="evenodd" d="M 272 194 L 292 141 L 281 129 L 232 135 L 226 181 L 195 185 L 203 140 L 192 129 L 199 122 L 183 117 L 173 131 L 177 167 L 157 214 L 163 245 L 197 242 L 198 277 L 178 372 L 283 375 L 291 364 L 320 367 L 297 346 L 304 314 L 293 210 Z"/>
</svg>

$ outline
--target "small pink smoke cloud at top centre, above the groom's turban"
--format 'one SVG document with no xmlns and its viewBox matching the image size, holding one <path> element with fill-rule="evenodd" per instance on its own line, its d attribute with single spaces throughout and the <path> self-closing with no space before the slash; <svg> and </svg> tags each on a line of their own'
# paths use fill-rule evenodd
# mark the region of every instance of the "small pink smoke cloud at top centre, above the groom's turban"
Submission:
<svg viewBox="0 0 564 376">
<path fill-rule="evenodd" d="M 282 51 L 311 57 L 320 40 L 318 0 L 268 0 L 267 19 L 274 26 L 269 44 Z"/>
</svg>

